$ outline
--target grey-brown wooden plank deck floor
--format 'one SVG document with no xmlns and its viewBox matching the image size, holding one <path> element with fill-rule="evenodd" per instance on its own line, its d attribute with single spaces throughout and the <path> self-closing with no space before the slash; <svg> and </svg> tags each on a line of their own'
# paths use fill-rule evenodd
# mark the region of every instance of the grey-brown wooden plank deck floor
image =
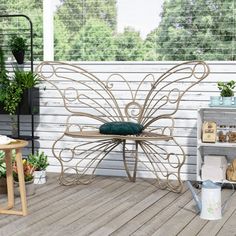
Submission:
<svg viewBox="0 0 236 236">
<path fill-rule="evenodd" d="M 231 191 L 223 190 L 223 198 Z M 1 195 L 1 204 L 4 199 Z M 236 235 L 236 194 L 222 220 L 201 220 L 194 205 L 186 188 L 176 194 L 145 180 L 117 177 L 66 187 L 50 174 L 47 184 L 28 197 L 28 216 L 0 216 L 0 236 Z"/>
</svg>

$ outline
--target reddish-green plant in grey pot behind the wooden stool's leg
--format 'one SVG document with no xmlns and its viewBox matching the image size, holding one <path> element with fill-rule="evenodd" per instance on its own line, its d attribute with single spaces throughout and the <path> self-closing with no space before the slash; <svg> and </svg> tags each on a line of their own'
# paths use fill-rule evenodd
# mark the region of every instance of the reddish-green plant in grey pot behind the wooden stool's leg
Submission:
<svg viewBox="0 0 236 236">
<path fill-rule="evenodd" d="M 35 194 L 35 186 L 34 186 L 34 169 L 35 168 L 26 159 L 23 159 L 22 162 L 23 162 L 26 196 L 30 196 L 30 195 Z M 17 170 L 16 162 L 13 163 L 13 178 L 14 178 L 15 195 L 20 196 L 18 170 Z"/>
</svg>

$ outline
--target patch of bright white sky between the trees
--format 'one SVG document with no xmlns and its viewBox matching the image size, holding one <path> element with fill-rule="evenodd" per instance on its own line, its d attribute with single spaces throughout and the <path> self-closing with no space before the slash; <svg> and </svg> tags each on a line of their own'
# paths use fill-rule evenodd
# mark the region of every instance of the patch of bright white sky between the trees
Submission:
<svg viewBox="0 0 236 236">
<path fill-rule="evenodd" d="M 118 32 L 123 32 L 125 26 L 131 26 L 145 38 L 160 23 L 163 1 L 117 0 Z"/>
</svg>

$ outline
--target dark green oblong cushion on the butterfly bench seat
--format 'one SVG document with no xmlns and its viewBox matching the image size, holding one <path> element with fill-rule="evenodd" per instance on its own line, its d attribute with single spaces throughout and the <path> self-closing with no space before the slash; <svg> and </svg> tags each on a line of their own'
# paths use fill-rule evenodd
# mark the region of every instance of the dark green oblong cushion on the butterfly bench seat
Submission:
<svg viewBox="0 0 236 236">
<path fill-rule="evenodd" d="M 108 122 L 100 126 L 101 134 L 134 135 L 142 133 L 143 126 L 133 122 Z"/>
</svg>

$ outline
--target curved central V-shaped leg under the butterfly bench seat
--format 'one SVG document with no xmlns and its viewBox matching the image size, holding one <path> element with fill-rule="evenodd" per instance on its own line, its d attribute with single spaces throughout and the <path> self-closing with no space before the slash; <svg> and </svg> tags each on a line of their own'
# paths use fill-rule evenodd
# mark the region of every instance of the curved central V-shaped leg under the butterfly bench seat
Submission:
<svg viewBox="0 0 236 236">
<path fill-rule="evenodd" d="M 138 142 L 135 142 L 135 152 L 134 152 L 134 167 L 133 167 L 133 175 L 131 175 L 130 168 L 127 165 L 126 161 L 126 140 L 123 141 L 123 162 L 124 162 L 124 167 L 126 174 L 131 182 L 136 181 L 136 173 L 137 173 L 137 165 L 138 165 Z"/>
</svg>

